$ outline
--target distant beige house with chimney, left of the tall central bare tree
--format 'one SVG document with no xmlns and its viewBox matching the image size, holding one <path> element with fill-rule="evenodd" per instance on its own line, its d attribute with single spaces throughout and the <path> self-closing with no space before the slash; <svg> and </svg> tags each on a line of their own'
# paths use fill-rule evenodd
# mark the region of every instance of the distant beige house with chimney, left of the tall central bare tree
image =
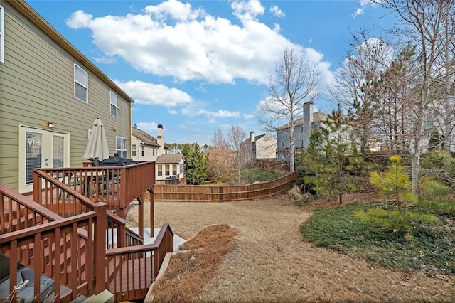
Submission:
<svg viewBox="0 0 455 303">
<path fill-rule="evenodd" d="M 242 142 L 242 147 L 249 151 L 250 159 L 277 159 L 277 139 L 271 134 L 250 132 L 250 138 Z"/>
</svg>

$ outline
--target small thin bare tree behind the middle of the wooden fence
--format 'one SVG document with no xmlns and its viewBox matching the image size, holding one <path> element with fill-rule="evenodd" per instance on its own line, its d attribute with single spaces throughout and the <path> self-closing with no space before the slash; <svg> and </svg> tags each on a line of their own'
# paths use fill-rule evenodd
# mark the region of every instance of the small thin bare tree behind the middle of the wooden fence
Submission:
<svg viewBox="0 0 455 303">
<path fill-rule="evenodd" d="M 242 145 L 246 137 L 247 135 L 242 127 L 232 126 L 228 130 L 228 136 L 225 141 L 232 156 L 232 166 L 237 171 L 237 184 L 240 184 L 242 180 L 242 169 L 245 168 L 250 159 L 248 155 L 249 149 L 246 149 L 245 145 Z"/>
</svg>

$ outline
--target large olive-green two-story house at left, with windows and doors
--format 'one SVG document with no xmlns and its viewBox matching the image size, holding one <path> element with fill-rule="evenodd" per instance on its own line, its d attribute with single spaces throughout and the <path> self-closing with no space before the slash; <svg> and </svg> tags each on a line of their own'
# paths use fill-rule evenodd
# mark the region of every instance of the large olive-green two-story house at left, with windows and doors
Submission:
<svg viewBox="0 0 455 303">
<path fill-rule="evenodd" d="M 0 179 L 32 191 L 40 167 L 82 166 L 92 128 L 130 156 L 134 102 L 26 1 L 0 0 Z"/>
</svg>

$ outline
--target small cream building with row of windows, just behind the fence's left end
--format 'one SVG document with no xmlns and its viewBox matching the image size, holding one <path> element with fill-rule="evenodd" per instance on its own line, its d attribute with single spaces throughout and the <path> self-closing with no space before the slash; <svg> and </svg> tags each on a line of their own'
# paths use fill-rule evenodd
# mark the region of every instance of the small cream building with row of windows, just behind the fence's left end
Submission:
<svg viewBox="0 0 455 303">
<path fill-rule="evenodd" d="M 156 184 L 184 183 L 183 154 L 161 154 L 156 158 L 155 166 Z"/>
</svg>

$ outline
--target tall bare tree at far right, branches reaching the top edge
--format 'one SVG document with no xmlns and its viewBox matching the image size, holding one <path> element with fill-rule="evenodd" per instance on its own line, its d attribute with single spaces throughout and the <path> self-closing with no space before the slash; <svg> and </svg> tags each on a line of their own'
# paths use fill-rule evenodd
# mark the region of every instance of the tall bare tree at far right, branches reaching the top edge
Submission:
<svg viewBox="0 0 455 303">
<path fill-rule="evenodd" d="M 449 25 L 447 18 L 454 16 L 454 1 L 449 0 L 383 0 L 382 6 L 395 11 L 403 21 L 400 34 L 405 35 L 407 41 L 416 46 L 417 55 L 414 56 L 414 65 L 419 72 L 416 77 L 407 78 L 413 86 L 414 94 L 407 100 L 412 117 L 411 146 L 412 154 L 412 192 L 417 193 L 420 178 L 420 156 L 424 140 L 424 125 L 431 117 L 429 111 L 434 101 L 439 99 L 437 87 L 441 83 L 448 83 L 449 75 L 440 73 L 439 64 L 444 50 L 453 45 L 454 27 L 451 24 L 449 33 L 445 33 L 444 24 Z M 452 37 L 450 41 L 446 39 Z M 449 46 L 448 46 L 449 43 Z M 446 63 L 449 64 L 449 63 Z M 447 69 L 449 72 L 449 69 Z M 451 72 L 453 73 L 453 68 Z M 446 81 L 444 81 L 446 80 Z M 444 87 L 447 87 L 446 84 Z M 450 85 L 449 85 L 450 86 Z M 449 92 L 444 90 L 447 95 Z M 417 96 L 417 97 L 414 97 Z M 444 103 L 444 105 L 447 105 Z"/>
</svg>

